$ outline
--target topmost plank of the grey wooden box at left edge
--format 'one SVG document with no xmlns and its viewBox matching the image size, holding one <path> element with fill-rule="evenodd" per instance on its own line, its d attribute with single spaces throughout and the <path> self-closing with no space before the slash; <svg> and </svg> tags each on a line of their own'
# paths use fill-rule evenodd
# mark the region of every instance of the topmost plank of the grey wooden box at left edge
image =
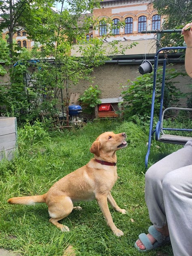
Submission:
<svg viewBox="0 0 192 256">
<path fill-rule="evenodd" d="M 16 117 L 0 117 L 0 136 L 16 132 Z"/>
</svg>

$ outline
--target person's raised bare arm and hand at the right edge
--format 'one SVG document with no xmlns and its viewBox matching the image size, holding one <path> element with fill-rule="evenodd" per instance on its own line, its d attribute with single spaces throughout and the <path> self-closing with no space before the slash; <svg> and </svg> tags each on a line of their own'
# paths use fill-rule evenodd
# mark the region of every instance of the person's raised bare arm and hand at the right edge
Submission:
<svg viewBox="0 0 192 256">
<path fill-rule="evenodd" d="M 192 77 L 192 27 L 189 30 L 185 30 L 189 26 L 192 26 L 192 22 L 188 23 L 183 27 L 181 34 L 184 36 L 184 41 L 186 42 L 186 56 L 185 56 L 185 68 L 186 72 L 190 77 Z"/>
</svg>

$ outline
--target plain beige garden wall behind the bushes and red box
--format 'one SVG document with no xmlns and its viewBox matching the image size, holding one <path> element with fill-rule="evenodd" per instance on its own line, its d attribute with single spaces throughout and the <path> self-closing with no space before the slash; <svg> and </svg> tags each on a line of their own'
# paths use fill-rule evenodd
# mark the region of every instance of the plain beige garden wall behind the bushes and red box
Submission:
<svg viewBox="0 0 192 256">
<path fill-rule="evenodd" d="M 185 70 L 184 64 L 174 64 L 175 69 Z M 117 98 L 122 96 L 123 86 L 126 85 L 128 79 L 134 81 L 136 77 L 141 76 L 138 71 L 139 64 L 136 65 L 118 65 L 118 64 L 105 64 L 98 68 L 94 68 L 92 77 L 94 79 L 93 85 L 98 85 L 102 94 L 100 98 Z M 192 84 L 192 79 L 188 76 L 177 77 L 178 81 L 175 84 L 179 87 L 181 92 L 191 92 L 192 88 L 188 84 Z M 69 88 L 69 93 L 80 93 L 89 87 L 90 83 L 81 81 L 78 85 Z"/>
</svg>

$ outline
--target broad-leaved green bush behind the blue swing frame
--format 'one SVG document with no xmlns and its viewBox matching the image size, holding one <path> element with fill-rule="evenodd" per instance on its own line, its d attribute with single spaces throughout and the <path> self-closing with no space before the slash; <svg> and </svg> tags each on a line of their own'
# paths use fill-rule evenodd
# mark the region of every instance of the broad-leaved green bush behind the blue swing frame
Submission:
<svg viewBox="0 0 192 256">
<path fill-rule="evenodd" d="M 171 64 L 169 65 L 169 67 Z M 154 107 L 154 114 L 158 115 L 160 109 L 160 95 L 162 85 L 162 67 L 158 68 L 157 79 L 156 79 L 156 102 Z M 167 68 L 165 87 L 164 87 L 164 108 L 170 107 L 171 105 L 178 102 L 181 98 L 181 92 L 175 87 L 176 81 L 173 81 L 179 75 L 186 75 L 181 73 L 174 68 Z M 149 120 L 151 113 L 151 99 L 153 91 L 153 77 L 154 74 L 145 74 L 137 77 L 135 81 L 128 80 L 128 85 L 124 88 L 122 106 L 124 108 L 124 118 L 126 120 L 132 120 L 134 115 L 139 115 L 143 118 L 144 122 Z"/>
</svg>

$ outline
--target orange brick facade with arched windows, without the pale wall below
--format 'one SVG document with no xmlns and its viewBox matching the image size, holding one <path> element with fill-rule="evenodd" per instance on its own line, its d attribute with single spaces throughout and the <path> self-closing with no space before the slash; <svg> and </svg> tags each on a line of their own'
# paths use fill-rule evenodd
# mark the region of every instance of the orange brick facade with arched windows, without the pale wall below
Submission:
<svg viewBox="0 0 192 256">
<path fill-rule="evenodd" d="M 114 26 L 113 36 L 107 41 L 140 40 L 144 38 L 142 30 L 160 30 L 162 25 L 162 18 L 154 10 L 150 0 L 103 0 L 100 7 L 93 11 L 94 18 L 101 20 L 99 29 L 93 30 L 93 37 L 107 34 L 107 24 L 102 21 L 103 18 L 110 18 Z M 125 23 L 124 28 L 115 28 L 119 21 Z M 151 35 L 147 34 L 147 37 L 151 38 Z"/>
</svg>

